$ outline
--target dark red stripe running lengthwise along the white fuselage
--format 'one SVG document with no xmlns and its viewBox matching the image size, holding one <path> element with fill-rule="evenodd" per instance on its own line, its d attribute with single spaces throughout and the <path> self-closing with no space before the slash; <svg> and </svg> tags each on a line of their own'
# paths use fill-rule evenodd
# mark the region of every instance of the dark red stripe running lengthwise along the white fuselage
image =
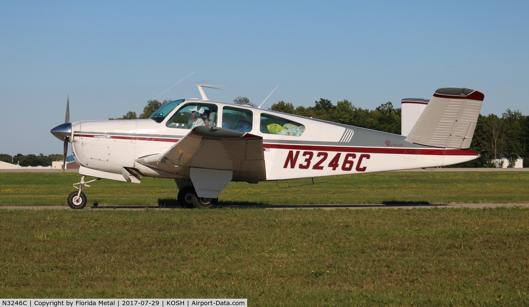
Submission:
<svg viewBox="0 0 529 307">
<path fill-rule="evenodd" d="M 74 134 L 74 137 L 97 138 L 107 135 Z M 179 139 L 165 138 L 143 138 L 143 137 L 121 137 L 110 136 L 111 139 L 156 141 L 156 142 L 178 142 Z M 362 153 L 389 153 L 392 155 L 431 155 L 431 156 L 478 156 L 477 152 L 468 149 L 434 149 L 434 148 L 395 148 L 395 147 L 348 147 L 348 146 L 319 146 L 319 145 L 290 145 L 290 144 L 264 144 L 263 148 L 289 149 L 289 150 L 313 150 L 331 152 L 362 152 Z"/>
</svg>

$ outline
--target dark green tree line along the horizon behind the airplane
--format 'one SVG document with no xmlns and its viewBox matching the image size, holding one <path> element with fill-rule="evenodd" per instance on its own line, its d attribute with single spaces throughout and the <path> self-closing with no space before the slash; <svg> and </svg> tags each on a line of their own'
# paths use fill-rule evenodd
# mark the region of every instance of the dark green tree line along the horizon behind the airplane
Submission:
<svg viewBox="0 0 529 307">
<path fill-rule="evenodd" d="M 170 102 L 164 100 L 149 101 L 143 107 L 143 112 L 138 116 L 136 112 L 129 111 L 121 118 L 116 119 L 147 119 L 162 105 Z M 233 100 L 235 104 L 256 106 L 247 97 L 237 97 Z M 384 131 L 400 134 L 401 110 L 395 108 L 391 102 L 377 106 L 375 110 L 362 109 L 354 106 L 350 101 L 339 101 L 334 105 L 330 100 L 320 98 L 314 102 L 314 106 L 297 106 L 292 103 L 279 101 L 269 108 L 278 111 L 300 116 L 312 116 L 316 119 L 352 125 L 361 128 Z M 114 119 L 110 119 L 114 120 Z M 494 163 L 495 157 L 506 153 L 510 158 L 508 167 L 514 167 L 516 158 L 522 157 L 523 167 L 529 167 L 529 115 L 523 115 L 520 111 L 507 109 L 503 114 L 481 115 L 479 114 L 476 130 L 472 139 L 472 151 L 478 152 L 481 156 L 475 160 L 449 167 L 497 167 Z M 0 161 L 17 164 L 21 166 L 51 165 L 51 161 L 62 160 L 62 155 L 54 154 L 44 156 L 27 155 L 18 153 L 10 156 L 0 153 Z"/>
</svg>

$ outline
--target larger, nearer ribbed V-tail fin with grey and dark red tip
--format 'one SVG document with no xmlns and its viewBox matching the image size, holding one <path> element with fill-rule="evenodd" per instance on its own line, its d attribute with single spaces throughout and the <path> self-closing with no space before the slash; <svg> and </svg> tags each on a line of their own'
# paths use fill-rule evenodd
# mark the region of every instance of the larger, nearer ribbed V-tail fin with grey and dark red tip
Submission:
<svg viewBox="0 0 529 307">
<path fill-rule="evenodd" d="M 485 95 L 468 88 L 440 88 L 406 141 L 443 148 L 469 148 Z"/>
</svg>

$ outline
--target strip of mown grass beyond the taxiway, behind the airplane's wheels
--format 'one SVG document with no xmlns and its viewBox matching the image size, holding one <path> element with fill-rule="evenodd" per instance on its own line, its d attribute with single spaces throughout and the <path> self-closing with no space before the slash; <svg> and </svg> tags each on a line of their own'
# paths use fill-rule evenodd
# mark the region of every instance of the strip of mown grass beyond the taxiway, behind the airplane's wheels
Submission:
<svg viewBox="0 0 529 307">
<path fill-rule="evenodd" d="M 75 173 L 0 173 L 0 206 L 66 205 L 79 181 Z M 289 182 L 230 183 L 220 204 L 529 203 L 529 172 L 409 171 L 315 178 Z M 323 182 L 323 183 L 322 183 Z M 175 204 L 174 180 L 141 184 L 102 179 L 85 187 L 88 205 Z"/>
</svg>

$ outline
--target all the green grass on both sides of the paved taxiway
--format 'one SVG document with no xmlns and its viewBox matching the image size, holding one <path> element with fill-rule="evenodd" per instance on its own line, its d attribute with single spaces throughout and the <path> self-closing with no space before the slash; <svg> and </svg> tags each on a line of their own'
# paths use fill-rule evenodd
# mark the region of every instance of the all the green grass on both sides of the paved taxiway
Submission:
<svg viewBox="0 0 529 307">
<path fill-rule="evenodd" d="M 0 205 L 66 205 L 78 174 L 0 173 Z M 529 203 L 527 172 L 399 172 L 221 204 Z M 289 184 L 303 184 L 296 180 Z M 287 183 L 280 182 L 279 186 Z M 176 204 L 172 180 L 94 182 L 89 205 Z M 250 306 L 527 306 L 529 206 L 7 210 L 0 297 L 247 298 Z"/>
</svg>

